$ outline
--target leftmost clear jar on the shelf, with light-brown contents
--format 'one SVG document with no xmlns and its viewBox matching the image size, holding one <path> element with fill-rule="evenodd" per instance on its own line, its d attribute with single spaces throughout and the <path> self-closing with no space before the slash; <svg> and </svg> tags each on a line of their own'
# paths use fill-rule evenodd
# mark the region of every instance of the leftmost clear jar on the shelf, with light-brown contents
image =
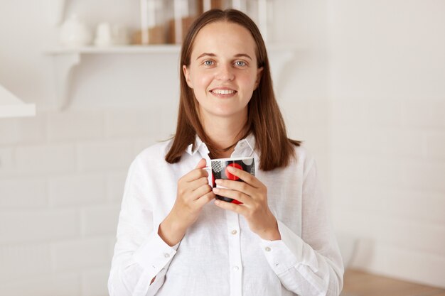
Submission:
<svg viewBox="0 0 445 296">
<path fill-rule="evenodd" d="M 141 0 L 141 30 L 134 33 L 135 44 L 167 43 L 166 6 L 163 0 Z"/>
</svg>

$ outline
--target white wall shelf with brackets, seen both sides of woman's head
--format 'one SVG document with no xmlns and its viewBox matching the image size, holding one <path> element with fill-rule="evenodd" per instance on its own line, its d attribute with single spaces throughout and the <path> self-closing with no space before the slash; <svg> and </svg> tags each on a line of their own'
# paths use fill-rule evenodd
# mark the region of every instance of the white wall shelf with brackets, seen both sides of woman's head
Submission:
<svg viewBox="0 0 445 296">
<path fill-rule="evenodd" d="M 267 45 L 270 67 L 274 82 L 279 80 L 279 74 L 284 65 L 293 59 L 297 45 L 270 44 Z M 45 50 L 45 55 L 53 58 L 53 76 L 55 98 L 59 110 L 66 109 L 70 104 L 70 82 L 73 69 L 80 65 L 83 55 L 179 55 L 181 45 L 127 45 L 82 48 L 53 48 Z"/>
</svg>

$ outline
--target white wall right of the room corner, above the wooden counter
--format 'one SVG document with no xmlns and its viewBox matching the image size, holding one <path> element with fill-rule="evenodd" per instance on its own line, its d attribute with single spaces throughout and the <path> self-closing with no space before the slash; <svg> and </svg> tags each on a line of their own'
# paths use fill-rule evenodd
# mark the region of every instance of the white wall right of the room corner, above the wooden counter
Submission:
<svg viewBox="0 0 445 296">
<path fill-rule="evenodd" d="M 336 228 L 355 268 L 445 287 L 445 6 L 332 2 Z"/>
</svg>

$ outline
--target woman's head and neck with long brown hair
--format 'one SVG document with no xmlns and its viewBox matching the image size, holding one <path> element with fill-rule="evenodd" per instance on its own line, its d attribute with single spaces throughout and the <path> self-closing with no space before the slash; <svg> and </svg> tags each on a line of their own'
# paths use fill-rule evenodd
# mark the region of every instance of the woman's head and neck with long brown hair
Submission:
<svg viewBox="0 0 445 296">
<path fill-rule="evenodd" d="M 237 141 L 249 133 L 256 137 L 257 149 L 267 151 L 261 156 L 263 170 L 285 167 L 289 163 L 294 155 L 294 146 L 299 146 L 300 142 L 286 136 L 284 120 L 272 88 L 266 46 L 259 29 L 248 16 L 236 10 L 213 10 L 200 16 L 183 41 L 181 72 L 178 125 L 166 155 L 168 163 L 177 163 L 183 150 L 195 143 L 195 136 L 206 143 L 210 158 L 224 158 L 230 156 Z M 208 80 L 213 81 L 210 83 Z M 237 85 L 240 89 L 233 89 Z M 216 100 L 218 94 L 226 92 L 233 92 L 232 97 L 236 100 Z M 244 109 L 243 100 L 247 100 Z M 232 109 L 232 112 L 237 111 L 240 117 L 224 116 L 227 115 L 224 110 L 230 108 L 228 103 L 233 101 L 238 102 L 238 109 Z M 218 105 L 208 106 L 212 102 L 218 102 Z M 211 121 L 206 116 L 207 121 L 203 124 L 206 118 L 200 109 L 207 114 L 217 110 L 220 113 L 215 114 L 219 116 L 213 116 Z M 212 133 L 205 131 L 208 125 L 213 125 Z M 222 127 L 227 125 L 232 128 Z"/>
</svg>

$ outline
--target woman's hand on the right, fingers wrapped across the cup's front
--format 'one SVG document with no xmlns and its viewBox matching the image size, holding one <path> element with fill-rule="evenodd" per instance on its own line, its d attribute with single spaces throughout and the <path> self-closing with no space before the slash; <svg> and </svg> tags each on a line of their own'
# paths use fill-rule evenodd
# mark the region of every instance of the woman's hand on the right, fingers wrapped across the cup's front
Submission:
<svg viewBox="0 0 445 296">
<path fill-rule="evenodd" d="M 262 239 L 269 241 L 281 239 L 277 219 L 267 205 L 267 187 L 249 172 L 233 167 L 227 167 L 227 170 L 244 182 L 218 179 L 215 180 L 216 184 L 227 189 L 213 188 L 213 192 L 223 197 L 237 199 L 242 204 L 224 202 L 220 199 L 216 199 L 215 204 L 244 216 L 250 229 Z"/>
</svg>

